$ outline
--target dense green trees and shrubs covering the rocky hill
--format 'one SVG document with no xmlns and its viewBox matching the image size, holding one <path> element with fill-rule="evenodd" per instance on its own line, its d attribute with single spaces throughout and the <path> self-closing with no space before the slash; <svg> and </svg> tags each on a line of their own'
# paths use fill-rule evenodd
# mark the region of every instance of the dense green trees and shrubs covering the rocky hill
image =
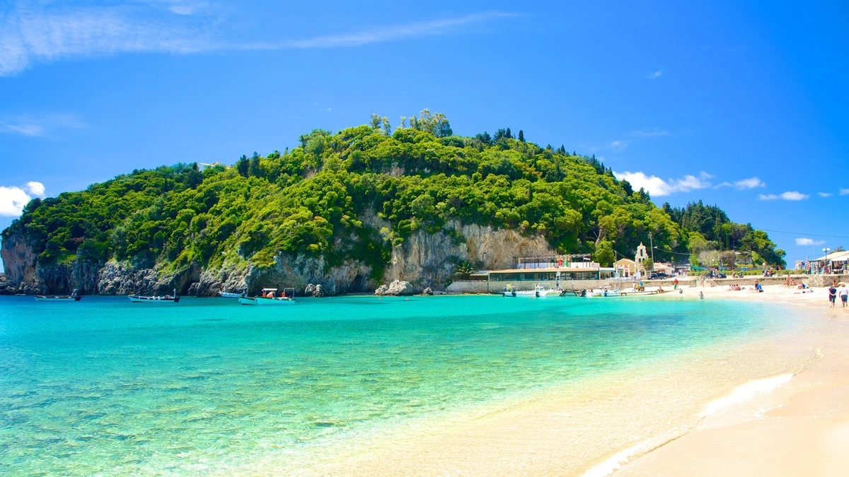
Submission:
<svg viewBox="0 0 849 477">
<path fill-rule="evenodd" d="M 648 233 L 660 254 L 689 253 L 689 231 L 723 246 L 748 243 L 724 239 L 737 237 L 722 235 L 732 223 L 724 213 L 716 233 L 714 222 L 683 216 L 694 212 L 657 208 L 594 158 L 527 143 L 509 128 L 458 137 L 444 115 L 424 110 L 394 132 L 374 115 L 370 126 L 314 130 L 291 151 L 242 156 L 233 167 L 162 166 L 34 199 L 3 234 L 25 233 L 44 264 L 267 267 L 282 252 L 365 261 L 375 278 L 392 246 L 449 221 L 543 234 L 563 253 L 604 264 L 633 256 Z"/>
</svg>

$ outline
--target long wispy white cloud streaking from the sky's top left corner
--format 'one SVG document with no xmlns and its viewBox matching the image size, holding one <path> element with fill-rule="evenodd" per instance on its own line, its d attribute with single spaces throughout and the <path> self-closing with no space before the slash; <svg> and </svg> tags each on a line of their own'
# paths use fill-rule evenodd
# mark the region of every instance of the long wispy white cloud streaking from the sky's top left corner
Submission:
<svg viewBox="0 0 849 477">
<path fill-rule="evenodd" d="M 212 10 L 210 3 L 193 0 L 138 0 L 105 6 L 18 0 L 10 8 L 0 8 L 0 76 L 14 75 L 39 63 L 119 53 L 357 47 L 460 33 L 470 25 L 520 16 L 483 12 L 267 42 L 226 38 Z"/>
</svg>

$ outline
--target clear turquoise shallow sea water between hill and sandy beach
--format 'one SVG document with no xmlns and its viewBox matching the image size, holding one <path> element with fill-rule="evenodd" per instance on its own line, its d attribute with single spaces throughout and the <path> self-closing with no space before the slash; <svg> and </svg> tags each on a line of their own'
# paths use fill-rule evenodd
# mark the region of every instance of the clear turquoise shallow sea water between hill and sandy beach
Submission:
<svg viewBox="0 0 849 477">
<path fill-rule="evenodd" d="M 764 311 L 496 296 L 268 307 L 0 297 L 0 474 L 238 467 L 764 333 Z"/>
</svg>

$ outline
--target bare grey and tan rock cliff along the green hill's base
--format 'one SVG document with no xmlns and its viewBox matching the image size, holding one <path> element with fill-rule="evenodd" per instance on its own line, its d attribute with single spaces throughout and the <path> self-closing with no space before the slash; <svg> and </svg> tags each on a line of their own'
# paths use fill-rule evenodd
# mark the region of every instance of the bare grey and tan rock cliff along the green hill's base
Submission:
<svg viewBox="0 0 849 477">
<path fill-rule="evenodd" d="M 379 225 L 379 224 L 376 224 Z M 419 229 L 392 249 L 382 282 L 407 281 L 417 290 L 445 289 L 458 261 L 483 264 L 484 268 L 509 268 L 514 255 L 553 254 L 543 237 L 523 237 L 515 230 L 492 229 L 449 222 L 438 233 Z M 374 291 L 380 283 L 371 278 L 372 268 L 356 259 L 330 265 L 323 257 L 280 254 L 267 268 L 225 265 L 215 269 L 189 267 L 166 273 L 158 267 L 139 268 L 127 263 L 97 263 L 77 259 L 42 266 L 20 233 L 3 240 L 0 255 L 7 284 L 0 293 L 70 293 L 85 295 L 164 295 L 177 289 L 180 295 L 214 296 L 220 291 L 254 294 L 264 287 L 294 287 L 301 294 L 307 284 L 320 284 L 327 295 Z"/>
</svg>

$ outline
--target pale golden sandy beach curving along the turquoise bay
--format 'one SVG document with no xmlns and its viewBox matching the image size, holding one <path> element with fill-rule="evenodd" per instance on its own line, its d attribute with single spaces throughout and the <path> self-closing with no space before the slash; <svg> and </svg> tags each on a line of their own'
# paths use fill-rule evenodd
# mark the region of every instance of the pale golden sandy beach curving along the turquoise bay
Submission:
<svg viewBox="0 0 849 477">
<path fill-rule="evenodd" d="M 318 468 L 295 474 L 846 474 L 849 308 L 829 310 L 825 289 L 750 288 L 692 287 L 655 298 L 699 300 L 701 291 L 706 301 L 779 303 L 765 309 L 796 314 L 804 332 L 396 429 L 356 450 L 328 448 Z M 274 469 L 270 460 L 245 470 Z"/>
</svg>

